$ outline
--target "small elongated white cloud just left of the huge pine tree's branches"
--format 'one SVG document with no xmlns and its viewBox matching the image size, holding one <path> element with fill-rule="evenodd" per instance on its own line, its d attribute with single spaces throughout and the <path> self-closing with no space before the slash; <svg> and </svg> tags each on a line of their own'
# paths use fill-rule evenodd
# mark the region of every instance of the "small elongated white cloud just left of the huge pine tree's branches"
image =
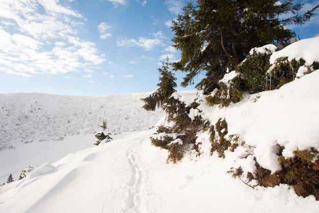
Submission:
<svg viewBox="0 0 319 213">
<path fill-rule="evenodd" d="M 155 46 L 161 45 L 162 41 L 154 38 L 144 38 L 144 37 L 139 37 L 138 40 L 136 39 L 119 39 L 116 41 L 118 46 L 125 46 L 127 48 L 132 47 L 132 46 L 139 46 L 140 48 L 143 48 L 146 51 L 153 50 Z"/>
</svg>

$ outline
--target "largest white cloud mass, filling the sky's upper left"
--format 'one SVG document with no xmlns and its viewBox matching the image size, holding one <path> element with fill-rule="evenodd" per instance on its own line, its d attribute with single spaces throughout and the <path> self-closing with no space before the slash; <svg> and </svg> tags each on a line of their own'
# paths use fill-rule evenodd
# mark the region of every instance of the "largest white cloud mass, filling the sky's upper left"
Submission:
<svg viewBox="0 0 319 213">
<path fill-rule="evenodd" d="M 76 36 L 84 17 L 57 0 L 3 1 L 0 18 L 13 24 L 0 26 L 2 72 L 24 77 L 69 73 L 105 61 L 95 43 Z"/>
</svg>

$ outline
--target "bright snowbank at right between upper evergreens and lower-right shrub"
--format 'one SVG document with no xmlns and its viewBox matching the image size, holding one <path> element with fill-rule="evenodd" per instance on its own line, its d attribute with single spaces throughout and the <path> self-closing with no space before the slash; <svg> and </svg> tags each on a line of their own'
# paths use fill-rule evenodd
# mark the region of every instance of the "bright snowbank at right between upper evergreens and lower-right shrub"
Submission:
<svg viewBox="0 0 319 213">
<path fill-rule="evenodd" d="M 297 149 L 319 150 L 319 110 L 315 107 L 319 106 L 318 81 L 319 72 L 315 70 L 280 89 L 246 96 L 227 108 L 208 107 L 202 101 L 206 96 L 199 91 L 175 96 L 186 104 L 194 100 L 201 103 L 197 110 L 191 110 L 191 118 L 201 115 L 212 125 L 225 118 L 228 135 L 240 135 L 247 145 L 256 147 L 254 156 L 263 168 L 278 171 L 277 144 L 285 147 L 285 157 L 293 156 Z"/>
</svg>

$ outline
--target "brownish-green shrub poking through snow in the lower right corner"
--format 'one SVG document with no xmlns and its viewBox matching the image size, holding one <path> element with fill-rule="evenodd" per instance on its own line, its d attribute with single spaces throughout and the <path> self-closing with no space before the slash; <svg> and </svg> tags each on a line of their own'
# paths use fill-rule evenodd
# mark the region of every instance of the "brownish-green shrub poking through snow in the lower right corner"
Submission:
<svg viewBox="0 0 319 213">
<path fill-rule="evenodd" d="M 284 147 L 280 147 L 281 152 L 283 149 Z M 232 174 L 233 178 L 238 177 L 243 183 L 252 188 L 257 185 L 274 187 L 283 183 L 292 186 L 299 196 L 307 197 L 313 195 L 316 200 L 319 200 L 319 154 L 314 148 L 296 150 L 294 151 L 294 157 L 290 158 L 280 156 L 278 162 L 282 170 L 274 173 L 260 167 L 256 158 L 254 160 L 256 167 L 254 174 L 247 172 L 244 176 L 242 167 L 237 169 L 230 168 L 227 173 Z M 252 180 L 255 180 L 256 183 L 253 184 Z"/>
</svg>

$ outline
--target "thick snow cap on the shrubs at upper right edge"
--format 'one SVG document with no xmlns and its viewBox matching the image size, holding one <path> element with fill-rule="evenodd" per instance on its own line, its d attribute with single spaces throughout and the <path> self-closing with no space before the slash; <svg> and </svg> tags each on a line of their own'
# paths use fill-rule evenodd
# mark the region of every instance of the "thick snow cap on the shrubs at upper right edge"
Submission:
<svg viewBox="0 0 319 213">
<path fill-rule="evenodd" d="M 319 62 L 319 37 L 302 39 L 286 46 L 281 51 L 274 52 L 270 57 L 270 63 L 274 64 L 277 58 L 288 57 L 288 61 L 304 59 L 305 65 Z"/>
</svg>

